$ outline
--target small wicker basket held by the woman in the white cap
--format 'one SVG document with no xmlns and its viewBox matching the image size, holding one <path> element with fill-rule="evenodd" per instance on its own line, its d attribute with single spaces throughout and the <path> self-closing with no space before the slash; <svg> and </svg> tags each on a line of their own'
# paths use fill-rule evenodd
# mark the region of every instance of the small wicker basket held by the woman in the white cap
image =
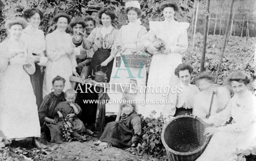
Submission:
<svg viewBox="0 0 256 161">
<path fill-rule="evenodd" d="M 147 63 L 150 55 L 146 53 L 141 54 L 121 54 L 125 67 L 143 68 Z"/>
</svg>

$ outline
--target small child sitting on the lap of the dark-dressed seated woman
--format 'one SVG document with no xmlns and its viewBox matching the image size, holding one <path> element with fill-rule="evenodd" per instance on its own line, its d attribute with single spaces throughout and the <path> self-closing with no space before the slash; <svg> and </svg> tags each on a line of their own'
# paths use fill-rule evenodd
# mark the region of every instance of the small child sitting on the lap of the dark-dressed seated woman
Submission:
<svg viewBox="0 0 256 161">
<path fill-rule="evenodd" d="M 77 105 L 75 102 L 76 99 L 76 93 L 73 89 L 68 89 L 65 92 L 65 99 L 66 101 L 60 102 L 55 110 L 54 113 L 56 114 L 54 120 L 56 120 L 56 125 L 63 129 L 63 125 L 66 119 L 68 122 L 72 124 L 72 133 L 71 137 L 75 137 L 78 140 L 85 141 L 86 138 L 82 135 L 79 135 L 78 133 L 86 132 L 85 125 L 82 123 L 82 121 L 77 118 L 76 116 L 79 115 L 82 112 L 82 109 L 79 105 Z"/>
</svg>

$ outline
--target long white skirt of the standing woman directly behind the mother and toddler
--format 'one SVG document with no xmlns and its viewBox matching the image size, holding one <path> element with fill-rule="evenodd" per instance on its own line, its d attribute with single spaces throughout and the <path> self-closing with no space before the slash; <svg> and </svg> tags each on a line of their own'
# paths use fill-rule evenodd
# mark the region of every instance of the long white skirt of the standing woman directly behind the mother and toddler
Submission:
<svg viewBox="0 0 256 161">
<path fill-rule="evenodd" d="M 73 75 L 73 71 L 70 59 L 67 57 L 67 55 L 61 56 L 61 58 L 57 61 L 53 62 L 49 60 L 47 62 L 43 79 L 43 97 L 52 92 L 52 79 L 54 79 L 57 75 L 66 80 L 63 92 L 72 88 L 69 77 Z"/>
</svg>

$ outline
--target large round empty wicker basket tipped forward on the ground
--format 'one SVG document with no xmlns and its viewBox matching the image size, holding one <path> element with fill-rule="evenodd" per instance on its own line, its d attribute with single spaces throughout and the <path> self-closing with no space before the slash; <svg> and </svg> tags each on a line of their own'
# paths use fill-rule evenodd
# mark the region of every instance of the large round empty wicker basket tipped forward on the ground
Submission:
<svg viewBox="0 0 256 161">
<path fill-rule="evenodd" d="M 169 159 L 171 161 L 195 161 L 202 154 L 210 139 L 204 136 L 205 128 L 200 118 L 189 115 L 180 115 L 168 122 L 161 133 L 161 140 Z"/>
</svg>

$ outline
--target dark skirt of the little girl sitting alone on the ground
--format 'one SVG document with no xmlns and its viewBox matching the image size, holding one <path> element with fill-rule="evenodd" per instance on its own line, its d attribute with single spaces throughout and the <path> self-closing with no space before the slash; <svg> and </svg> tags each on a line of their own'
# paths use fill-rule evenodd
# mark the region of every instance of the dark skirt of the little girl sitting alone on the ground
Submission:
<svg viewBox="0 0 256 161">
<path fill-rule="evenodd" d="M 134 131 L 128 129 L 124 123 L 113 121 L 109 122 L 100 137 L 102 142 L 111 142 L 117 148 L 126 149 L 132 144 Z"/>
</svg>

